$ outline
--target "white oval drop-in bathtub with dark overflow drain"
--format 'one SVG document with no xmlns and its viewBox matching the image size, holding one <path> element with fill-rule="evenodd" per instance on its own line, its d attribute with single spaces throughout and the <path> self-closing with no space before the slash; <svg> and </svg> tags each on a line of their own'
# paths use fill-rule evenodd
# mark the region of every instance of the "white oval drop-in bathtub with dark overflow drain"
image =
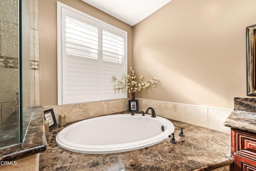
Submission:
<svg viewBox="0 0 256 171">
<path fill-rule="evenodd" d="M 116 114 L 73 123 L 56 135 L 56 143 L 77 153 L 119 153 L 155 145 L 173 132 L 174 125 L 163 117 Z"/>
</svg>

